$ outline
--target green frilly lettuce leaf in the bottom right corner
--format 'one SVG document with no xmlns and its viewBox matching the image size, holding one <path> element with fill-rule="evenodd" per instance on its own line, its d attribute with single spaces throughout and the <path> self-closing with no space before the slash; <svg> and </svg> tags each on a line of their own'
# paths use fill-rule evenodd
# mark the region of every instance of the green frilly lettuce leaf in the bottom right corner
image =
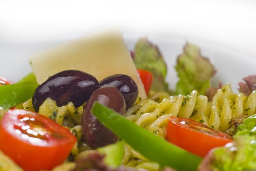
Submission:
<svg viewBox="0 0 256 171">
<path fill-rule="evenodd" d="M 233 143 L 212 150 L 200 168 L 199 171 L 255 171 L 256 114 L 238 126 Z"/>
</svg>

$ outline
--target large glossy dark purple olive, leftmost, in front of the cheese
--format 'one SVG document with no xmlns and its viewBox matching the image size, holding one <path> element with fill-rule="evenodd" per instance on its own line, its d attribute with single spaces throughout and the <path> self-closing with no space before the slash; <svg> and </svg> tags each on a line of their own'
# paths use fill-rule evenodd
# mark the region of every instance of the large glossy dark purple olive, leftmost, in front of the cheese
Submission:
<svg viewBox="0 0 256 171">
<path fill-rule="evenodd" d="M 38 111 L 40 105 L 49 97 L 58 106 L 73 102 L 75 107 L 79 107 L 87 101 L 98 85 L 97 79 L 88 73 L 78 70 L 62 71 L 36 88 L 32 104 L 35 111 Z"/>
</svg>

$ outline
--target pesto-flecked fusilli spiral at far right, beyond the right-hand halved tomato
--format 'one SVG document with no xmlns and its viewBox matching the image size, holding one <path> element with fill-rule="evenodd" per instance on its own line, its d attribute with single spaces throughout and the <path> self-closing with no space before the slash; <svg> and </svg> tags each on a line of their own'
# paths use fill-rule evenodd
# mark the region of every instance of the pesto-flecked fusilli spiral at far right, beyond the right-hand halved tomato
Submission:
<svg viewBox="0 0 256 171">
<path fill-rule="evenodd" d="M 226 131 L 231 124 L 231 120 L 241 115 L 251 116 L 256 110 L 256 91 L 248 97 L 243 93 L 234 94 L 231 86 L 226 84 L 212 99 L 211 113 L 209 116 L 209 126 Z"/>
</svg>

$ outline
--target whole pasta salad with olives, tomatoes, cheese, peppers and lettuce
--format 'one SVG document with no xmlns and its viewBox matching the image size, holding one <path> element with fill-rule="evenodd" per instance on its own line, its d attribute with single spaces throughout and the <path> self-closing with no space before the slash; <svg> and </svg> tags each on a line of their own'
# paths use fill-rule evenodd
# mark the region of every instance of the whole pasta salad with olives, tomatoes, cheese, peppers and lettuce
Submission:
<svg viewBox="0 0 256 171">
<path fill-rule="evenodd" d="M 112 33 L 86 37 L 31 58 L 33 69 L 52 59 L 48 71 L 40 66 L 17 83 L 0 78 L 0 171 L 256 169 L 256 75 L 238 93 L 229 83 L 214 88 L 217 68 L 186 43 L 169 89 L 156 45 L 141 38 L 128 52 L 122 43 Z M 59 61 L 69 54 L 91 72 L 76 57 Z M 112 61 L 119 54 L 126 66 Z"/>
</svg>

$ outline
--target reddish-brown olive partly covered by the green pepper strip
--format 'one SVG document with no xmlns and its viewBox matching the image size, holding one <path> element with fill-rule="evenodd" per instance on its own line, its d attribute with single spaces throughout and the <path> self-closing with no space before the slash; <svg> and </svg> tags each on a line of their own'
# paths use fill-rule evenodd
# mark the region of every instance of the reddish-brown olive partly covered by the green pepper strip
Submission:
<svg viewBox="0 0 256 171">
<path fill-rule="evenodd" d="M 82 137 L 86 143 L 94 148 L 115 143 L 118 137 L 104 127 L 96 117 L 91 114 L 94 102 L 99 102 L 112 108 L 120 114 L 125 113 L 125 101 L 122 93 L 115 87 L 102 87 L 93 92 L 84 106 L 82 114 Z"/>
</svg>

